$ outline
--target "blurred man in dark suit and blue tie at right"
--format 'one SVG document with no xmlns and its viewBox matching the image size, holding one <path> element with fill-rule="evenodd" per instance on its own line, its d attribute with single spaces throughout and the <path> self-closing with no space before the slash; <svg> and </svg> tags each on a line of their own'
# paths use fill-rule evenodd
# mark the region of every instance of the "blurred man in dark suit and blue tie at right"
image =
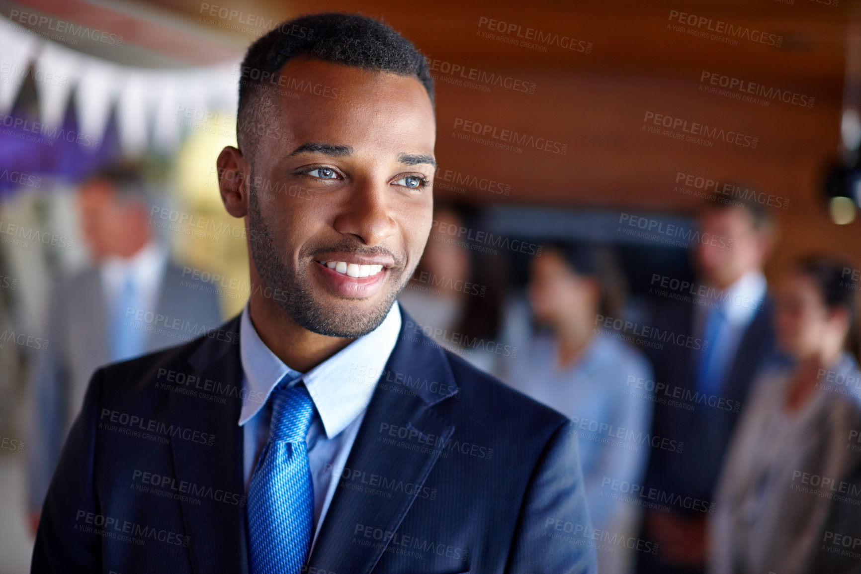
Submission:
<svg viewBox="0 0 861 574">
<path fill-rule="evenodd" d="M 687 410 L 675 402 L 655 403 L 653 435 L 681 441 L 684 450 L 652 449 L 644 490 L 683 502 L 669 512 L 645 513 L 641 538 L 660 546 L 657 555 L 640 553 L 639 571 L 647 573 L 703 571 L 707 513 L 702 508 L 714 501 L 724 453 L 739 418 L 734 408 L 725 407 L 738 404 L 744 409 L 754 375 L 774 350 L 771 302 L 762 272 L 774 229 L 765 207 L 709 203 L 700 214 L 699 232 L 693 253 L 699 277 L 690 290 L 691 303 L 656 309 L 653 321 L 655 328 L 703 343 L 699 348 L 665 345 L 651 353 L 655 381 L 673 393 L 695 397 L 696 406 Z"/>
</svg>

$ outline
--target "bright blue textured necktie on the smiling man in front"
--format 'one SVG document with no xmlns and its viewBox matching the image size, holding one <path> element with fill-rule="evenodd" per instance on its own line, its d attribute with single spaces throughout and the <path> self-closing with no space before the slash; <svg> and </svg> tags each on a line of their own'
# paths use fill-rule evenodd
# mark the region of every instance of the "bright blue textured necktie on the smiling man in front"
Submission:
<svg viewBox="0 0 861 574">
<path fill-rule="evenodd" d="M 311 547 L 314 485 L 305 437 L 314 403 L 304 384 L 272 392 L 269 442 L 248 489 L 251 574 L 298 574 Z"/>
</svg>

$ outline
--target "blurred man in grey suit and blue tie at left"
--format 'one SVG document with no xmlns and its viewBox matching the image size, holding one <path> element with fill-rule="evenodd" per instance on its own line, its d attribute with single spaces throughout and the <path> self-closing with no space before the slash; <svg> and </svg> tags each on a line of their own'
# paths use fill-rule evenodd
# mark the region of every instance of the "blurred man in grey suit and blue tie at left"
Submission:
<svg viewBox="0 0 861 574">
<path fill-rule="evenodd" d="M 93 266 L 54 285 L 29 384 L 28 510 L 32 532 L 93 371 L 177 345 L 221 321 L 212 285 L 183 277 L 149 225 L 146 184 L 131 166 L 110 167 L 78 194 Z"/>
</svg>

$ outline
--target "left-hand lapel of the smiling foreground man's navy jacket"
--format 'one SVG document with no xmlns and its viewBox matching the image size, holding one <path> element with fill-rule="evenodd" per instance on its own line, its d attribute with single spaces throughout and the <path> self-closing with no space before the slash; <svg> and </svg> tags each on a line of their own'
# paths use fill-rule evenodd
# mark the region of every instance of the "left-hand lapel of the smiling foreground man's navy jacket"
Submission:
<svg viewBox="0 0 861 574">
<path fill-rule="evenodd" d="M 243 441 L 242 428 L 238 426 L 242 389 L 238 331 L 236 317 L 202 340 L 189 357 L 189 372 L 184 373 L 201 377 L 201 386 L 211 381 L 221 389 L 211 393 L 212 397 L 224 398 L 224 403 L 201 395 L 170 392 L 170 423 L 214 437 L 211 446 L 191 440 L 171 441 L 177 481 L 187 481 L 204 493 L 223 490 L 240 501 L 218 502 L 215 496 L 204 494 L 193 496 L 200 498 L 201 504 L 180 502 L 185 533 L 190 537 L 191 564 L 198 574 L 248 571 Z M 236 497 L 230 498 L 237 500 Z"/>
</svg>

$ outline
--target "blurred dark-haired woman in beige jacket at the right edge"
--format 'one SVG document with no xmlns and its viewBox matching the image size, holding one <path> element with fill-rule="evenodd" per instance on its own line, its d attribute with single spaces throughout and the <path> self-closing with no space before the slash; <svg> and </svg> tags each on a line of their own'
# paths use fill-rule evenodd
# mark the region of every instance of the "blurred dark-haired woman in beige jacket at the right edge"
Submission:
<svg viewBox="0 0 861 574">
<path fill-rule="evenodd" d="M 827 552 L 827 515 L 842 505 L 861 515 L 861 497 L 843 482 L 858 465 L 851 431 L 861 429 L 846 267 L 801 259 L 779 285 L 775 330 L 789 357 L 759 376 L 729 447 L 709 524 L 711 574 L 824 571 L 813 565 Z"/>
</svg>

